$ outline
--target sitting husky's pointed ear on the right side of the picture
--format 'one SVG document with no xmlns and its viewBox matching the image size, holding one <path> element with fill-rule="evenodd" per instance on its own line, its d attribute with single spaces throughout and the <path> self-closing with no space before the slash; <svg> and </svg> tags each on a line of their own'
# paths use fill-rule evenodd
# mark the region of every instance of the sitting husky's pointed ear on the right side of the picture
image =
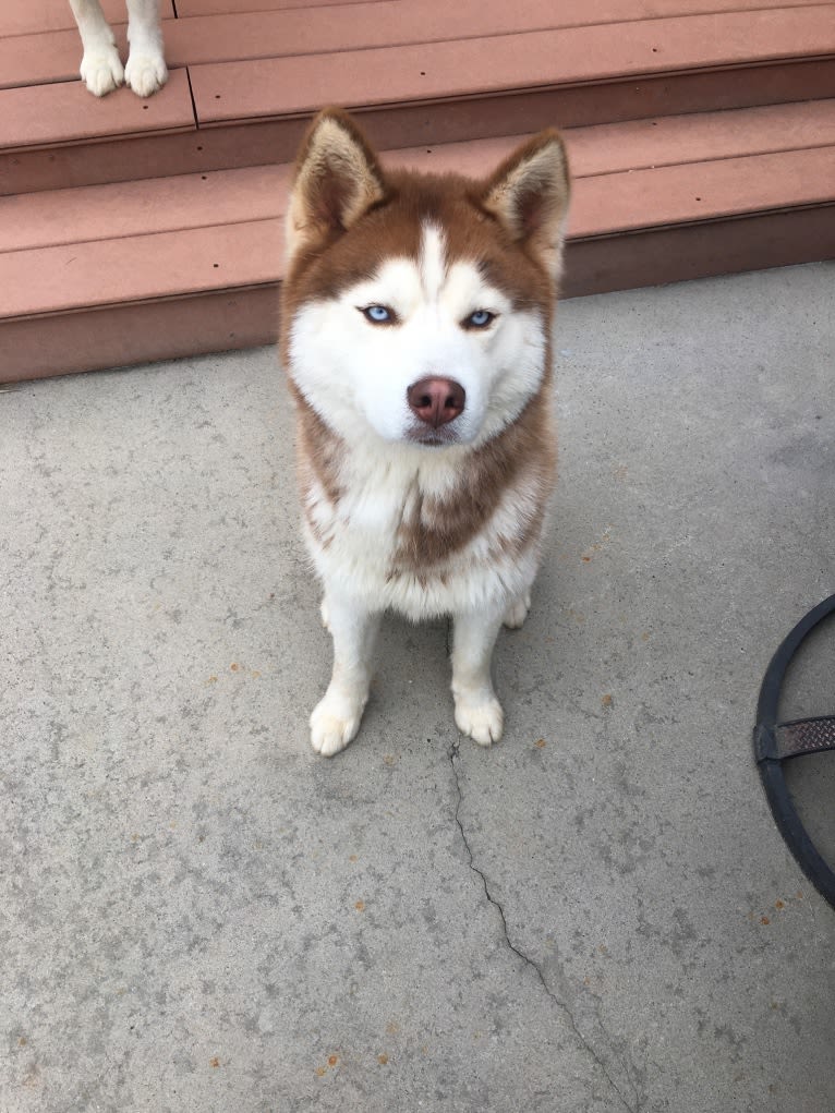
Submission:
<svg viewBox="0 0 835 1113">
<path fill-rule="evenodd" d="M 559 131 L 549 128 L 488 178 L 481 204 L 558 278 L 570 193 L 566 148 Z"/>
</svg>

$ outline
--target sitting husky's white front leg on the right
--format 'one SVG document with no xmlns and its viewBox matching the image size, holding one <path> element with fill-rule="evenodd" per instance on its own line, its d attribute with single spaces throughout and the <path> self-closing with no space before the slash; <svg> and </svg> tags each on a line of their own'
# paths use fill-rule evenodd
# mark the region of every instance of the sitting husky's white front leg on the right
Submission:
<svg viewBox="0 0 835 1113">
<path fill-rule="evenodd" d="M 455 723 L 479 746 L 490 746 L 502 736 L 504 713 L 493 691 L 490 661 L 503 617 L 504 608 L 455 615 L 452 648 Z"/>
</svg>

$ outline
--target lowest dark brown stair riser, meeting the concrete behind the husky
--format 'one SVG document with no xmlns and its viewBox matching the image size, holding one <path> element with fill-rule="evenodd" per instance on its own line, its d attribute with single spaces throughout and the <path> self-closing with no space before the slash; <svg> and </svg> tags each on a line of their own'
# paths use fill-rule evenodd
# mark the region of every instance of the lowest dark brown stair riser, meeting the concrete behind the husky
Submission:
<svg viewBox="0 0 835 1113">
<path fill-rule="evenodd" d="M 835 257 L 835 206 L 578 239 L 563 297 Z M 277 284 L 0 324 L 0 382 L 274 343 Z"/>
</svg>

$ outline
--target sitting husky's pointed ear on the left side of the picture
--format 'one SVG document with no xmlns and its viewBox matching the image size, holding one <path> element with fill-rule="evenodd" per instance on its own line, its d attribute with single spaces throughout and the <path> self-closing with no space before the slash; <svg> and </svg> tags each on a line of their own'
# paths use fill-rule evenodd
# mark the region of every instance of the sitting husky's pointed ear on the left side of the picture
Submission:
<svg viewBox="0 0 835 1113">
<path fill-rule="evenodd" d="M 287 210 L 287 257 L 346 232 L 384 196 L 383 174 L 365 136 L 347 112 L 323 109 L 296 159 Z"/>
</svg>

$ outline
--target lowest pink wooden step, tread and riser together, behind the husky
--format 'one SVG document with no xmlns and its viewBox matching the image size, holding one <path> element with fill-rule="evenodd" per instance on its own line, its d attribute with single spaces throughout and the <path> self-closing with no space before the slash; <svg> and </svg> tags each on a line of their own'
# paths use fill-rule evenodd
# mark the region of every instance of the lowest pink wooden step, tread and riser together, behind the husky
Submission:
<svg viewBox="0 0 835 1113">
<path fill-rule="evenodd" d="M 568 295 L 835 255 L 834 102 L 662 122 L 568 134 Z M 731 155 L 739 136 L 745 152 Z M 517 141 L 384 160 L 478 173 Z M 14 229 L 0 254 L 0 377 L 272 338 L 288 178 L 254 167 L 0 200 Z"/>
</svg>

